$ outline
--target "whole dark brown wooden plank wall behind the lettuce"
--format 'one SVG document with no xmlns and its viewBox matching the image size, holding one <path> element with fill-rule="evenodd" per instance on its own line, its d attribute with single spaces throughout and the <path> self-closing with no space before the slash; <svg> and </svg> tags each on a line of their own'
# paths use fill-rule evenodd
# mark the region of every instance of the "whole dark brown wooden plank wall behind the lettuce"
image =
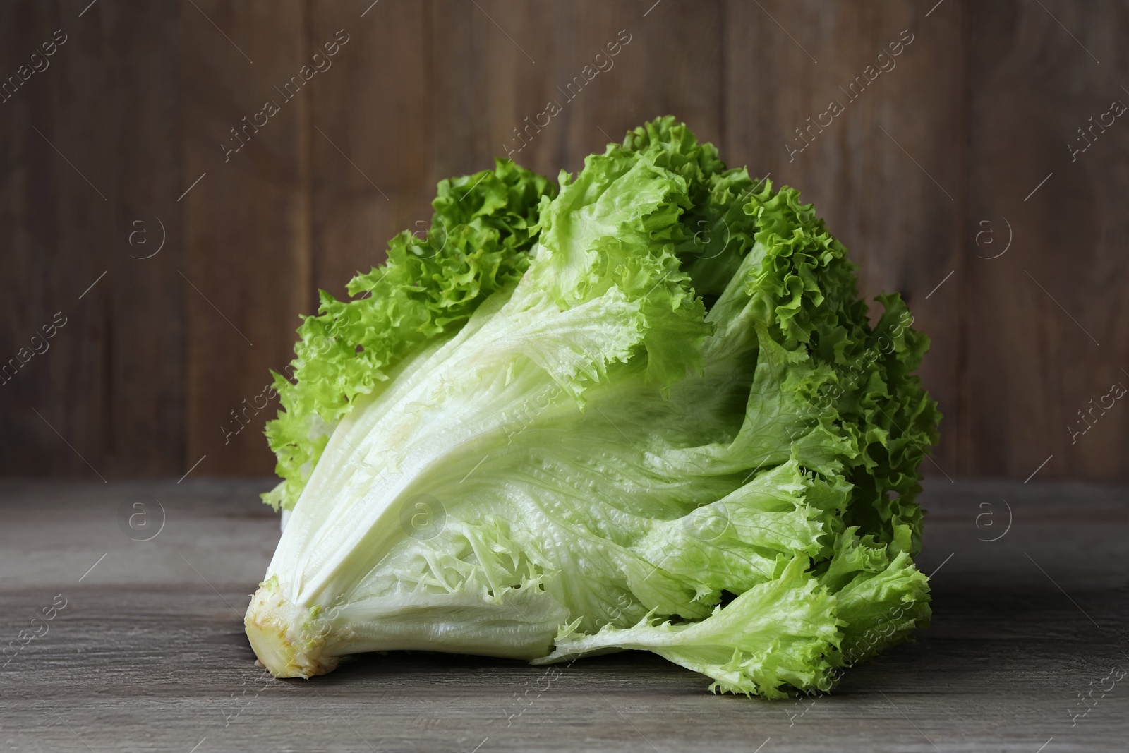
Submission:
<svg viewBox="0 0 1129 753">
<path fill-rule="evenodd" d="M 622 32 L 517 161 L 555 177 L 675 114 L 815 202 L 864 294 L 907 297 L 945 413 L 929 474 L 1129 478 L 1129 411 L 1068 429 L 1129 385 L 1129 135 L 1068 146 L 1129 103 L 1122 2 L 19 0 L 0 77 L 56 29 L 0 103 L 0 364 L 67 324 L 0 378 L 0 474 L 270 473 L 264 413 L 224 428 L 317 288 L 343 295 L 438 180 L 490 166 Z M 332 65 L 225 156 L 339 30 Z"/>
</svg>

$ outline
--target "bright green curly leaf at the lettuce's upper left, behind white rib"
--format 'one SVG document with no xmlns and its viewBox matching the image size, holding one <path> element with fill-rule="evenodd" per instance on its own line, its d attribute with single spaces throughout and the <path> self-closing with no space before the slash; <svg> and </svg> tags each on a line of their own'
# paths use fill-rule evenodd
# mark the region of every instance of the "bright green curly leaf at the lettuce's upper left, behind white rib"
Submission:
<svg viewBox="0 0 1129 753">
<path fill-rule="evenodd" d="M 541 199 L 555 193 L 548 178 L 501 159 L 493 170 L 443 181 L 426 237 L 405 230 L 393 238 L 388 261 L 349 282 L 353 300 L 320 292 L 320 312 L 298 327 L 287 375 L 272 373 L 283 410 L 266 437 L 282 482 L 265 501 L 292 508 L 332 427 L 358 397 L 378 391 L 413 350 L 456 331 L 522 275 Z"/>
</svg>

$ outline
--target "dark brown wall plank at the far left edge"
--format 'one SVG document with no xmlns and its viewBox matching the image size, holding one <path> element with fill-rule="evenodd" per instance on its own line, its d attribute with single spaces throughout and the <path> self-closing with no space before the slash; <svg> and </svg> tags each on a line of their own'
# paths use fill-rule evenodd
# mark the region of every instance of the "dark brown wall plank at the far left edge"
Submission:
<svg viewBox="0 0 1129 753">
<path fill-rule="evenodd" d="M 3 434 L 29 440 L 6 446 L 0 466 L 163 473 L 183 455 L 178 286 L 169 251 L 137 257 L 163 236 L 170 249 L 180 230 L 176 8 L 80 11 L 5 7 L 5 28 L 19 38 L 5 46 L 5 70 L 35 62 L 36 51 L 46 63 L 0 104 L 2 244 L 9 279 L 23 282 L 5 297 L 6 358 L 34 335 L 43 343 L 44 325 L 65 324 L 2 377 Z M 53 38 L 63 42 L 44 55 Z"/>
</svg>

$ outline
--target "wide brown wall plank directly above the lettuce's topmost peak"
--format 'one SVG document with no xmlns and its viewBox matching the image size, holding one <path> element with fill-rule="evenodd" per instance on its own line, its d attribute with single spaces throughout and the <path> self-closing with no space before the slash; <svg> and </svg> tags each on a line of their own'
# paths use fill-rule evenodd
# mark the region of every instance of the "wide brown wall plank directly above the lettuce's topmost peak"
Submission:
<svg viewBox="0 0 1129 753">
<path fill-rule="evenodd" d="M 718 6 L 667 0 L 645 18 L 651 5 L 436 2 L 437 177 L 509 154 L 555 178 L 667 113 L 717 140 Z"/>
</svg>

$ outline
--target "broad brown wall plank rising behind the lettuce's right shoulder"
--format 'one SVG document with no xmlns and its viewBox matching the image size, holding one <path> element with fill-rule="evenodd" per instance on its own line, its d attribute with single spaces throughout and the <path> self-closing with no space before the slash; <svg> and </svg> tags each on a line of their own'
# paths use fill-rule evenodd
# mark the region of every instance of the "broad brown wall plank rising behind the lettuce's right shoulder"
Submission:
<svg viewBox="0 0 1129 753">
<path fill-rule="evenodd" d="M 931 475 L 959 470 L 962 310 L 929 296 L 961 274 L 963 10 L 949 6 L 725 6 L 724 154 L 798 187 L 860 265 L 860 294 L 901 292 L 929 334 L 921 378 L 945 414 Z"/>
</svg>

